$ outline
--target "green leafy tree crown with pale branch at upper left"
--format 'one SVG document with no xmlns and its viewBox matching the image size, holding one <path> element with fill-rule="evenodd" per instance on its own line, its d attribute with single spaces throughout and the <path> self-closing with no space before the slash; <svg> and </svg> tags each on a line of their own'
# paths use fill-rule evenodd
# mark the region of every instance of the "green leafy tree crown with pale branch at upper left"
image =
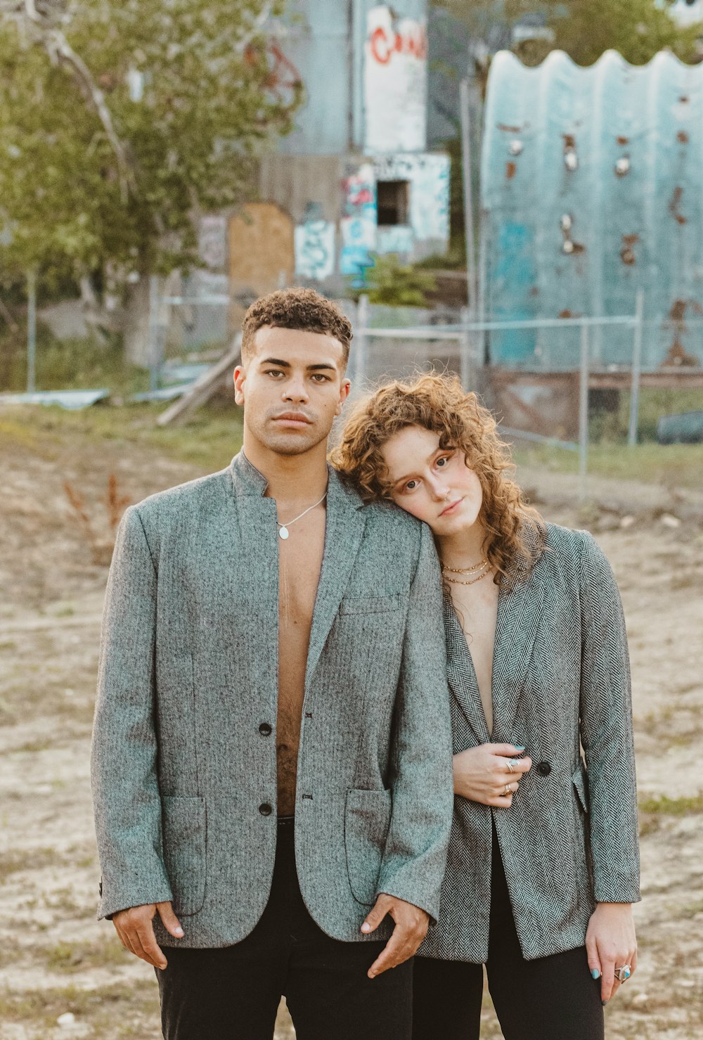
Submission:
<svg viewBox="0 0 703 1040">
<path fill-rule="evenodd" d="M 271 75 L 281 6 L 0 0 L 0 277 L 144 297 L 196 264 L 194 217 L 246 198 L 300 103 Z"/>
</svg>

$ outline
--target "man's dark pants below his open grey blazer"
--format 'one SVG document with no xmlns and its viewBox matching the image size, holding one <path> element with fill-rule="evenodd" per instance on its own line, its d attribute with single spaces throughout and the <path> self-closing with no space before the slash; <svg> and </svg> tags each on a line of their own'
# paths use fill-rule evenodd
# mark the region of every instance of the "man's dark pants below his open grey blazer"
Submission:
<svg viewBox="0 0 703 1040">
<path fill-rule="evenodd" d="M 285 996 L 297 1040 L 411 1040 L 413 963 L 366 972 L 385 942 L 331 939 L 297 885 L 293 822 L 280 821 L 274 883 L 254 931 L 222 950 L 168 947 L 157 971 L 166 1040 L 271 1040 Z"/>
</svg>

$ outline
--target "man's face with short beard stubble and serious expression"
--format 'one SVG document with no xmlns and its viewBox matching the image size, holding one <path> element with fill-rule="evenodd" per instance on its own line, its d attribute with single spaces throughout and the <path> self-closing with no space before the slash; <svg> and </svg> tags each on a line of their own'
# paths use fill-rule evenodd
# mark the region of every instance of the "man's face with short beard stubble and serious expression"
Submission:
<svg viewBox="0 0 703 1040">
<path fill-rule="evenodd" d="M 263 326 L 254 355 L 234 370 L 234 386 L 249 436 L 269 451 L 294 456 L 327 443 L 350 384 L 333 336 Z"/>
</svg>

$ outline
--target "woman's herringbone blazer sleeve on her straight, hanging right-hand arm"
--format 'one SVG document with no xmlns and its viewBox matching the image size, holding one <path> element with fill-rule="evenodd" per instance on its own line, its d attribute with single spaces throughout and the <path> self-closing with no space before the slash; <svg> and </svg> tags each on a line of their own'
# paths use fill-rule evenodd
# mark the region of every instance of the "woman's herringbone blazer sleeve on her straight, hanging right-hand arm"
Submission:
<svg viewBox="0 0 703 1040">
<path fill-rule="evenodd" d="M 625 619 L 610 565 L 583 532 L 581 745 L 590 794 L 594 898 L 640 900 L 637 800 Z"/>
</svg>

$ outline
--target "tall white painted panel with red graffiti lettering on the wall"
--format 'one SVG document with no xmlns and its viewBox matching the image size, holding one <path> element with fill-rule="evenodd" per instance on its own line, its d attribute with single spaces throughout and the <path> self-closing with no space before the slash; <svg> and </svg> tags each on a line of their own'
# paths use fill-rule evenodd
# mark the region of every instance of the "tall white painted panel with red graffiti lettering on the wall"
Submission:
<svg viewBox="0 0 703 1040">
<path fill-rule="evenodd" d="M 423 21 L 368 12 L 364 45 L 367 153 L 422 152 L 426 141 L 427 35 Z"/>
</svg>

